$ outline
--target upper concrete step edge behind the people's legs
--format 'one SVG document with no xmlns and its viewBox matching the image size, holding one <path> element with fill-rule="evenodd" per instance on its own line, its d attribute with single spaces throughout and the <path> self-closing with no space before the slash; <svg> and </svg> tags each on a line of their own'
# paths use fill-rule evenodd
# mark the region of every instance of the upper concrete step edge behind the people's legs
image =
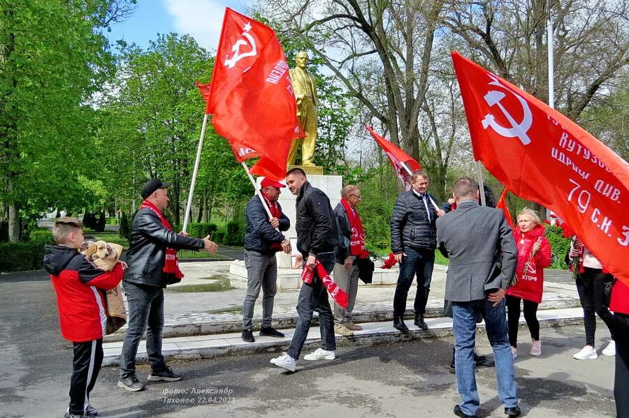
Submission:
<svg viewBox="0 0 629 418">
<path fill-rule="evenodd" d="M 435 304 L 432 304 L 435 306 Z M 581 304 L 579 299 L 565 298 L 557 300 L 542 301 L 539 306 L 540 311 L 548 309 L 565 309 L 565 308 L 579 308 Z M 412 319 L 413 311 L 407 310 L 404 318 Z M 443 309 L 437 307 L 426 308 L 426 318 L 438 318 L 443 315 Z M 393 307 L 382 308 L 382 306 L 365 306 L 363 308 L 357 308 L 352 313 L 352 319 L 356 323 L 369 323 L 369 322 L 386 322 L 393 321 Z M 262 317 L 261 315 L 254 315 L 254 330 L 259 330 Z M 317 317 L 313 319 L 313 325 L 319 324 Z M 276 313 L 273 315 L 273 327 L 277 329 L 290 329 L 294 328 L 297 324 L 297 313 L 292 311 L 290 313 Z M 240 333 L 243 330 L 243 316 L 241 313 L 192 313 L 186 317 L 171 317 L 165 318 L 164 323 L 164 338 L 175 338 L 184 336 L 203 336 L 212 334 L 226 334 L 231 332 Z M 110 334 L 104 338 L 106 343 L 112 343 L 115 341 L 123 341 L 126 334 L 126 325 L 116 331 L 114 334 Z"/>
</svg>

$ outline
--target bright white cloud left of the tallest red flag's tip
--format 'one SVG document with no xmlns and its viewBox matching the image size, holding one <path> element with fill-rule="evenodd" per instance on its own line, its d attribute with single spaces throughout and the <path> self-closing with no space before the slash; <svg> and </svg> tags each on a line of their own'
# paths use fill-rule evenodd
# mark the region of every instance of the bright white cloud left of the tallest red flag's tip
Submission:
<svg viewBox="0 0 629 418">
<path fill-rule="evenodd" d="M 163 0 L 178 33 L 188 33 L 208 50 L 218 47 L 225 7 L 233 0 Z"/>
</svg>

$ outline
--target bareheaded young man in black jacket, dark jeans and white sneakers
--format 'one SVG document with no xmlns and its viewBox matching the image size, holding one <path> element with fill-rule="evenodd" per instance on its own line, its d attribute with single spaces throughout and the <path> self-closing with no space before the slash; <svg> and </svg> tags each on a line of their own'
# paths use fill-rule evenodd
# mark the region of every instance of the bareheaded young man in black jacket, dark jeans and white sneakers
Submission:
<svg viewBox="0 0 629 418">
<path fill-rule="evenodd" d="M 303 255 L 305 269 L 315 269 L 320 262 L 328 274 L 334 268 L 334 247 L 338 244 L 338 232 L 332 214 L 330 200 L 318 188 L 310 186 L 301 168 L 289 170 L 286 184 L 297 195 L 296 225 L 297 249 Z M 328 292 L 316 274 L 310 285 L 303 283 L 297 301 L 298 320 L 295 334 L 287 353 L 271 359 L 270 363 L 295 371 L 297 359 L 308 336 L 312 313 L 319 312 L 321 348 L 306 354 L 305 360 L 333 360 L 336 358 L 334 317 L 328 300 Z"/>
</svg>

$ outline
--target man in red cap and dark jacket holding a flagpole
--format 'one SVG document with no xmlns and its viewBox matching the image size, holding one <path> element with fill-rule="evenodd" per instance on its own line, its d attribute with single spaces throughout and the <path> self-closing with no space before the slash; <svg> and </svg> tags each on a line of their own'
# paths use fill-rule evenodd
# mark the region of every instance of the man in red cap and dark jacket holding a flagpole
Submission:
<svg viewBox="0 0 629 418">
<path fill-rule="evenodd" d="M 247 267 L 247 294 L 243 303 L 243 341 L 253 343 L 252 318 L 256 299 L 262 288 L 262 327 L 260 335 L 282 338 L 284 334 L 271 327 L 273 298 L 277 292 L 277 260 L 275 253 L 291 253 L 290 241 L 280 231 L 287 231 L 291 222 L 282 213 L 277 202 L 280 188 L 284 184 L 271 179 L 263 179 L 261 193 L 270 210 L 269 217 L 259 195 L 254 195 L 247 203 L 247 230 L 245 233 L 245 267 Z M 280 230 L 276 230 L 279 228 Z"/>
</svg>

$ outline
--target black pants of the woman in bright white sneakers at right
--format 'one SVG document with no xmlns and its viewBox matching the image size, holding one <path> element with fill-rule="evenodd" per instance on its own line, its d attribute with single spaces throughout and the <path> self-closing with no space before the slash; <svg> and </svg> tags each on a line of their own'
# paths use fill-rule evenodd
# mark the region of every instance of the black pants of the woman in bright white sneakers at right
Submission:
<svg viewBox="0 0 629 418">
<path fill-rule="evenodd" d="M 614 322 L 612 313 L 605 306 L 605 285 L 614 278 L 611 274 L 604 274 L 602 269 L 590 269 L 585 267 L 585 271 L 577 277 L 577 291 L 581 306 L 583 306 L 583 322 L 586 329 L 586 345 L 594 347 L 594 332 L 596 331 L 596 315 L 605 322 L 609 333 L 614 338 Z M 595 315 L 596 314 L 596 315 Z"/>
</svg>

